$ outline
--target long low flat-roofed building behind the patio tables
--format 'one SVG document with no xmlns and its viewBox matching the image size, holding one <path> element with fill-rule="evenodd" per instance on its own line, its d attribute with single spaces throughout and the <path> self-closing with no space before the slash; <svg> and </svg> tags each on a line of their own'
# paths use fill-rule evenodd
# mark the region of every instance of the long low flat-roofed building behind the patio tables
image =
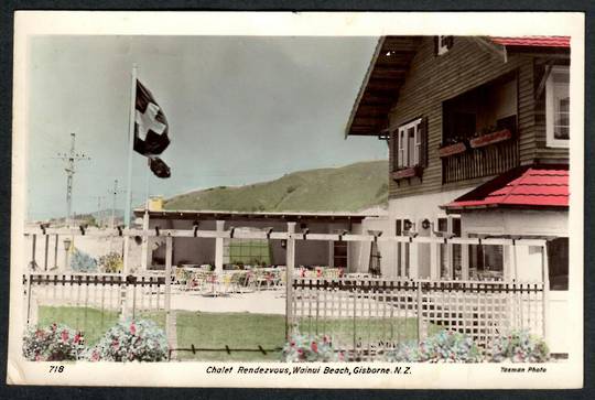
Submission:
<svg viewBox="0 0 595 400">
<path fill-rule="evenodd" d="M 369 224 L 386 218 L 381 212 L 237 213 L 165 210 L 161 209 L 161 206 L 136 209 L 134 215 L 138 223 L 142 218 L 143 229 L 149 230 L 229 231 L 227 238 L 174 238 L 172 262 L 178 268 L 176 272 L 183 278 L 193 271 L 213 271 L 219 277 L 223 277 L 224 271 L 259 271 L 263 272 L 263 277 L 256 279 L 269 280 L 259 285 L 279 284 L 284 277 L 282 271 L 286 263 L 286 240 L 275 239 L 273 233 L 302 234 L 305 238 L 317 234 L 363 234 Z M 252 237 L 242 238 L 242 234 Z M 347 242 L 340 238 L 333 241 L 301 240 L 295 245 L 295 267 L 303 271 L 302 275 L 338 275 L 339 271 L 367 271 L 369 256 L 369 244 Z M 140 270 L 164 269 L 164 239 L 143 239 L 138 262 Z M 237 275 L 239 274 L 238 272 Z"/>
</svg>

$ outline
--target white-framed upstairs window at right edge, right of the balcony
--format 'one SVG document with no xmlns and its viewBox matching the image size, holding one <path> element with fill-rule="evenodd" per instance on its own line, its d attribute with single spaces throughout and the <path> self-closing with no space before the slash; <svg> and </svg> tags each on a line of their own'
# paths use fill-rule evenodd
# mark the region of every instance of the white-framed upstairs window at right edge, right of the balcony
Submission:
<svg viewBox="0 0 595 400">
<path fill-rule="evenodd" d="M 554 66 L 545 83 L 545 131 L 548 145 L 565 148 L 570 139 L 570 72 Z"/>
</svg>

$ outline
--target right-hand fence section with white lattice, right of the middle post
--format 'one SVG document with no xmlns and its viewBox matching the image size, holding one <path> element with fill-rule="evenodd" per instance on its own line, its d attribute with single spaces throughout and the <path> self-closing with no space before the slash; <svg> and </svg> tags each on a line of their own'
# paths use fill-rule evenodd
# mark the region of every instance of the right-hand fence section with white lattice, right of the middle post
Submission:
<svg viewBox="0 0 595 400">
<path fill-rule="evenodd" d="M 511 329 L 544 334 L 538 282 L 300 278 L 292 287 L 292 326 L 327 335 L 360 359 L 440 329 L 464 333 L 488 352 Z"/>
</svg>

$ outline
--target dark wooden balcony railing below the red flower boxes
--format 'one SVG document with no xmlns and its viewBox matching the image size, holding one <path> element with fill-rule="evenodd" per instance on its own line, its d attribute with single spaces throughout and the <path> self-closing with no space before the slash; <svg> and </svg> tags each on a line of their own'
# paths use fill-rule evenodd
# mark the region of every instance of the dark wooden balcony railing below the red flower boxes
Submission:
<svg viewBox="0 0 595 400">
<path fill-rule="evenodd" d="M 442 159 L 442 183 L 498 175 L 519 165 L 519 144 L 512 140 Z"/>
</svg>

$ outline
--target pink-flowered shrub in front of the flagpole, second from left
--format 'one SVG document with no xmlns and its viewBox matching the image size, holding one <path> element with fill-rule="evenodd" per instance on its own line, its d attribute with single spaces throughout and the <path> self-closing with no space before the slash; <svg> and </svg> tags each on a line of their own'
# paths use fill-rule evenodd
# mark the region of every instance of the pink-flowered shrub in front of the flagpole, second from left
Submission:
<svg viewBox="0 0 595 400">
<path fill-rule="evenodd" d="M 167 358 L 165 332 L 149 320 L 120 322 L 87 352 L 90 361 L 161 361 Z"/>
</svg>

